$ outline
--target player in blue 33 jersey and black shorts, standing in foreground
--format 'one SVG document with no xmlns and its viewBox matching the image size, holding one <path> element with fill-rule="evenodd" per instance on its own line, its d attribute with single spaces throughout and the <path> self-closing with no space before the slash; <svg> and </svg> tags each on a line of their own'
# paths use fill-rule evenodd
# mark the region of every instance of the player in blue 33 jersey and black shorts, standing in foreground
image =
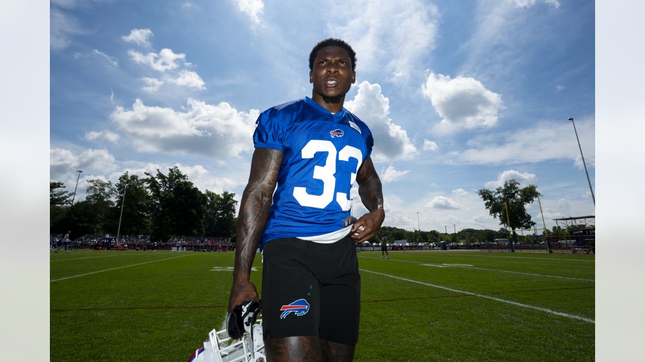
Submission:
<svg viewBox="0 0 645 362">
<path fill-rule="evenodd" d="M 343 107 L 356 53 L 325 39 L 309 55 L 312 97 L 264 111 L 237 218 L 228 310 L 259 296 L 250 281 L 263 257 L 262 320 L 268 361 L 352 361 L 361 275 L 356 243 L 385 218 L 368 126 Z M 368 213 L 350 214 L 352 184 Z M 275 191 L 275 193 L 274 193 Z"/>
</svg>

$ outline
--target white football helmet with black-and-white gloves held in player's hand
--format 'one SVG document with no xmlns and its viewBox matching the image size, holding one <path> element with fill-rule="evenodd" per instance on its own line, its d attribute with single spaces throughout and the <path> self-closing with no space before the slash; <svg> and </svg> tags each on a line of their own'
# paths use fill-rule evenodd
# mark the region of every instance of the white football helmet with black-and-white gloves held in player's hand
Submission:
<svg viewBox="0 0 645 362">
<path fill-rule="evenodd" d="M 265 362 L 262 319 L 255 320 L 259 304 L 257 301 L 245 302 L 229 312 L 226 318 L 228 328 L 211 330 L 204 345 L 195 350 L 186 362 Z M 244 327 L 239 339 L 229 336 L 229 330 L 235 321 L 241 321 Z M 230 334 L 236 333 L 231 330 Z"/>
</svg>

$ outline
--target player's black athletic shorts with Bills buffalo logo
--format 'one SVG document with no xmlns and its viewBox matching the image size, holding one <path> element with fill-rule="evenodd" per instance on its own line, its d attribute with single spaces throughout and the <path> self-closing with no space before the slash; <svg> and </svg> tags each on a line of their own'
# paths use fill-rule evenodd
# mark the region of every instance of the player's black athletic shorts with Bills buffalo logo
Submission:
<svg viewBox="0 0 645 362">
<path fill-rule="evenodd" d="M 361 314 L 361 275 L 349 238 L 316 243 L 280 238 L 264 245 L 264 338 L 319 336 L 355 345 Z"/>
</svg>

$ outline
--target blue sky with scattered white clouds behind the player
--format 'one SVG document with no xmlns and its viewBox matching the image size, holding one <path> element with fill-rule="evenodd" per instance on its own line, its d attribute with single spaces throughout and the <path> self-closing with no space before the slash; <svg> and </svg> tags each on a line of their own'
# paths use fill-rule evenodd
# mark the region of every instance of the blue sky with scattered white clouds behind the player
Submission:
<svg viewBox="0 0 645 362">
<path fill-rule="evenodd" d="M 595 214 L 568 120 L 595 193 L 592 1 L 52 0 L 50 180 L 74 192 L 83 170 L 83 200 L 88 180 L 177 166 L 239 200 L 255 119 L 311 97 L 327 37 L 357 53 L 344 105 L 373 133 L 383 225 L 497 230 L 477 190 L 511 178 L 549 229 Z"/>
</svg>

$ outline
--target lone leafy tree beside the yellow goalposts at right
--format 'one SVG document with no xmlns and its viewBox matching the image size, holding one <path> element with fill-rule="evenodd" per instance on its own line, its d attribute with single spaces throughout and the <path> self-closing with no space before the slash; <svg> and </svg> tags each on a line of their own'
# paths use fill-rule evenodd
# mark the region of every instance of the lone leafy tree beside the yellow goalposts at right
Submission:
<svg viewBox="0 0 645 362">
<path fill-rule="evenodd" d="M 508 180 L 504 186 L 497 189 L 480 189 L 477 193 L 484 200 L 484 205 L 491 216 L 499 220 L 500 225 L 510 227 L 513 231 L 513 241 L 517 242 L 516 229 L 528 229 L 535 225 L 531 215 L 526 213 L 526 205 L 533 204 L 538 196 L 541 196 L 535 185 L 523 188 L 518 187 L 519 182 Z M 508 215 L 506 207 L 508 207 Z M 510 225 L 509 225 L 510 220 Z"/>
</svg>

